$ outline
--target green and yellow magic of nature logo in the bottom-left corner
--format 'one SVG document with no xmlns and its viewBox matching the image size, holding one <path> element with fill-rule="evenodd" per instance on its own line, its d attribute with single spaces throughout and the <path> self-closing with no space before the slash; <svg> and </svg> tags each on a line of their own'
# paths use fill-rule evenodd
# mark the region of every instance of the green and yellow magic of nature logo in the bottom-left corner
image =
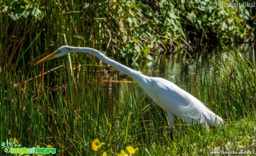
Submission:
<svg viewBox="0 0 256 156">
<path fill-rule="evenodd" d="M 6 142 L 1 143 L 2 149 L 5 153 L 10 154 L 55 154 L 56 148 L 26 148 L 21 147 L 21 144 L 18 144 L 14 139 L 13 142 L 9 142 L 8 139 Z"/>
</svg>

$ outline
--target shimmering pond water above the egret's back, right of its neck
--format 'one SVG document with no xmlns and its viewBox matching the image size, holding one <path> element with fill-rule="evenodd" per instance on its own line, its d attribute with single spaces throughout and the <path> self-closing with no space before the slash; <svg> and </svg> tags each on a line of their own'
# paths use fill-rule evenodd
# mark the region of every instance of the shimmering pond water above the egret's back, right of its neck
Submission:
<svg viewBox="0 0 256 156">
<path fill-rule="evenodd" d="M 188 85 L 195 86 L 195 76 L 197 78 L 204 76 L 205 72 L 208 77 L 213 76 L 214 64 L 223 66 L 225 63 L 227 66 L 229 64 L 228 58 L 232 55 L 228 52 L 218 53 L 216 51 L 208 53 L 196 53 L 193 57 L 193 61 L 188 61 L 185 58 L 171 59 L 164 57 L 159 59 L 157 63 L 149 62 L 144 66 L 138 66 L 138 64 L 126 64 L 126 66 L 132 69 L 140 69 L 146 76 L 151 77 L 161 77 L 170 80 L 171 82 L 179 85 L 180 88 L 188 91 Z M 191 88 L 190 92 L 194 92 Z"/>
</svg>

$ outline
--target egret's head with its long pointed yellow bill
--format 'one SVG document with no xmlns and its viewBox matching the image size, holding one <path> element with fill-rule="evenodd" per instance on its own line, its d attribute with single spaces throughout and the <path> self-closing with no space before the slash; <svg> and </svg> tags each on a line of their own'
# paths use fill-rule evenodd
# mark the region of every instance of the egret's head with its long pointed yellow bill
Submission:
<svg viewBox="0 0 256 156">
<path fill-rule="evenodd" d="M 40 61 L 37 61 L 35 63 L 35 65 L 38 63 L 44 62 L 46 60 L 49 60 L 49 59 L 61 57 L 67 53 L 72 53 L 72 52 L 74 52 L 74 49 L 75 49 L 75 47 L 62 46 L 62 47 L 58 48 L 55 52 L 51 53 L 50 55 L 40 59 Z"/>
</svg>

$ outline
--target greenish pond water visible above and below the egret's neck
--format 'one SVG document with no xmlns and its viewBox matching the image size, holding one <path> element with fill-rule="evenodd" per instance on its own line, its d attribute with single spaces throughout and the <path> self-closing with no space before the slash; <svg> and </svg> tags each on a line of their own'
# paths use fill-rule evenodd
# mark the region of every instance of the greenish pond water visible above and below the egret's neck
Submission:
<svg viewBox="0 0 256 156">
<path fill-rule="evenodd" d="M 127 67 L 135 69 L 136 71 L 141 71 L 146 76 L 150 77 L 161 77 L 178 85 L 180 88 L 186 90 L 187 92 L 195 96 L 196 89 L 196 78 L 208 77 L 209 83 L 211 83 L 211 77 L 214 75 L 214 64 L 223 66 L 229 64 L 229 58 L 232 54 L 229 52 L 218 53 L 219 50 L 213 49 L 210 52 L 198 52 L 195 56 L 188 60 L 186 58 L 170 58 L 163 57 L 156 59 L 155 62 L 147 63 L 122 63 Z M 104 79 L 102 81 L 104 87 L 104 98 L 105 102 L 113 103 L 118 96 L 118 92 L 122 97 L 122 90 L 124 84 L 130 86 L 131 79 L 121 77 L 120 72 L 115 71 L 114 68 L 104 69 Z M 102 76 L 102 74 L 100 74 Z M 120 83 L 123 82 L 123 83 Z"/>
</svg>

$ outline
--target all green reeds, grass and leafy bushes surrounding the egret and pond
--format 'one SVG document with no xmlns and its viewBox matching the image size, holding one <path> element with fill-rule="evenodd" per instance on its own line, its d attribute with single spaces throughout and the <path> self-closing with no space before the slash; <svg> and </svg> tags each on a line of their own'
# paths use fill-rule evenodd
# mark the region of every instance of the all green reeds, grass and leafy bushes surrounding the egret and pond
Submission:
<svg viewBox="0 0 256 156">
<path fill-rule="evenodd" d="M 0 142 L 15 138 L 22 147 L 51 146 L 55 155 L 255 152 L 256 7 L 213 3 L 1 1 Z M 251 46 L 240 52 L 240 43 Z M 188 88 L 194 87 L 194 95 L 225 124 L 189 126 L 175 118 L 171 140 L 166 113 L 135 94 L 136 83 L 122 82 L 119 96 L 106 100 L 101 80 L 94 79 L 109 67 L 99 59 L 75 54 L 33 66 L 42 54 L 65 44 L 95 48 L 129 63 L 163 56 L 193 62 L 195 53 L 219 44 L 219 53 L 233 56 L 229 66 L 221 62 L 211 76 L 190 77 L 196 86 Z"/>
</svg>

